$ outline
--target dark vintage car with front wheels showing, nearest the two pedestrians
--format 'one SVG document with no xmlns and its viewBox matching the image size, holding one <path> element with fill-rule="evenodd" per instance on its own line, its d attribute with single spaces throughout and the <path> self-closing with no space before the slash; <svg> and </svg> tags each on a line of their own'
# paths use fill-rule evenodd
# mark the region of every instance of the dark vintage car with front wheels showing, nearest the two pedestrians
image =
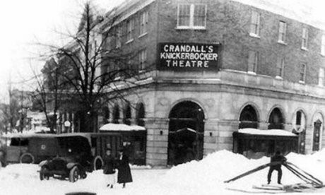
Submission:
<svg viewBox="0 0 325 195">
<path fill-rule="evenodd" d="M 59 146 L 57 156 L 40 162 L 40 179 L 54 177 L 76 182 L 87 177 L 87 172 L 100 169 L 106 148 L 112 155 L 122 148 L 120 134 L 75 133 L 56 136 Z"/>
</svg>

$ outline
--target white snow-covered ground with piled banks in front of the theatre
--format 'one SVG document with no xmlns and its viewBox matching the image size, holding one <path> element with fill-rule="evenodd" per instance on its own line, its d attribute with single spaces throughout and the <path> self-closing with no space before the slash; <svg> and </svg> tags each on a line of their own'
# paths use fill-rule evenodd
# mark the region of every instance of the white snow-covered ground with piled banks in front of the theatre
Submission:
<svg viewBox="0 0 325 195">
<path fill-rule="evenodd" d="M 314 177 L 325 182 L 325 150 L 313 155 L 287 155 L 288 161 L 293 162 Z M 115 185 L 114 189 L 107 189 L 105 175 L 102 171 L 88 174 L 88 177 L 76 183 L 49 179 L 40 181 L 37 165 L 8 165 L 0 170 L 0 194 L 34 195 L 34 194 L 66 194 L 73 191 L 90 191 L 102 194 L 247 194 L 254 184 L 265 184 L 268 168 L 252 175 L 238 179 L 229 184 L 223 181 L 231 179 L 242 172 L 251 170 L 269 161 L 269 158 L 248 160 L 242 155 L 221 150 L 200 162 L 192 161 L 183 165 L 167 169 L 150 169 L 150 167 L 133 167 L 134 182 L 127 184 L 125 189 Z M 277 172 L 273 172 L 272 182 L 276 184 Z M 283 167 L 283 184 L 302 182 Z M 256 192 L 255 192 L 256 193 Z M 309 190 L 299 194 L 325 194 L 325 189 Z"/>
</svg>

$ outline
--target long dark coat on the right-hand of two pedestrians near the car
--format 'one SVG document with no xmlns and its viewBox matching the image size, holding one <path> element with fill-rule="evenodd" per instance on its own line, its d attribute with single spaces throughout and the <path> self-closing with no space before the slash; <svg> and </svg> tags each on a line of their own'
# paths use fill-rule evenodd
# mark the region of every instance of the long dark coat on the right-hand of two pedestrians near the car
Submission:
<svg viewBox="0 0 325 195">
<path fill-rule="evenodd" d="M 122 160 L 119 160 L 118 163 L 118 174 L 117 174 L 117 183 L 129 183 L 132 182 L 132 175 L 129 166 L 129 156 L 122 155 Z"/>
</svg>

